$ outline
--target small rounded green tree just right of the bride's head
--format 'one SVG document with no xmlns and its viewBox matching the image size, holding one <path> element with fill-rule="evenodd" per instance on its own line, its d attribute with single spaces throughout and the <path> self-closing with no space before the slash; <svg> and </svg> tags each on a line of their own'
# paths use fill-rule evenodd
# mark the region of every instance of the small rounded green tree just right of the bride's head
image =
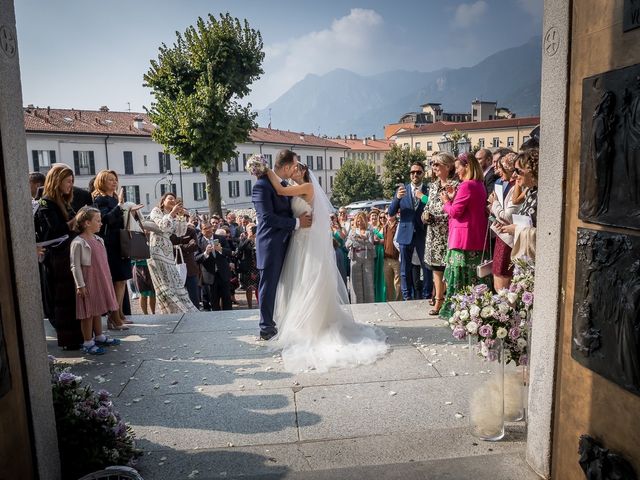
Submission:
<svg viewBox="0 0 640 480">
<path fill-rule="evenodd" d="M 344 206 L 360 200 L 375 200 L 381 197 L 382 184 L 373 165 L 361 160 L 344 162 L 333 181 L 331 203 Z"/>
</svg>

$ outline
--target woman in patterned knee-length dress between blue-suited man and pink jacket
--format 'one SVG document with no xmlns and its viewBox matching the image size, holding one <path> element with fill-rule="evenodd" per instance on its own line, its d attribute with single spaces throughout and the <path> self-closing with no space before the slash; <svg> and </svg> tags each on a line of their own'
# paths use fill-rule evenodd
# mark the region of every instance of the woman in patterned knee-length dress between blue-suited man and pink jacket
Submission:
<svg viewBox="0 0 640 480">
<path fill-rule="evenodd" d="M 434 308 L 429 315 L 438 315 L 444 302 L 445 285 L 443 281 L 444 258 L 447 254 L 449 238 L 449 216 L 443 209 L 440 198 L 447 187 L 458 187 L 455 176 L 455 158 L 448 153 L 440 152 L 432 157 L 431 168 L 433 180 L 429 183 L 429 194 L 422 194 L 421 201 L 427 202 L 422 213 L 422 221 L 427 225 L 427 236 L 424 246 L 424 263 L 433 272 L 433 286 L 436 289 Z"/>
</svg>

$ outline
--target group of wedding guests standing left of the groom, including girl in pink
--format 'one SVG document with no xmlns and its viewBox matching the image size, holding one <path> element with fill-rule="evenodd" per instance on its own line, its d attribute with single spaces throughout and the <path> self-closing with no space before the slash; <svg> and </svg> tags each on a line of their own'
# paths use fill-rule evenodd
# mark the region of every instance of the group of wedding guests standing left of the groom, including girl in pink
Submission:
<svg viewBox="0 0 640 480">
<path fill-rule="evenodd" d="M 44 176 L 29 175 L 45 315 L 58 345 L 91 355 L 118 345 L 103 332 L 127 330 L 129 284 L 144 314 L 231 310 L 242 287 L 249 308 L 257 302 L 256 226 L 188 212 L 180 198 L 162 195 L 148 218 L 127 202 L 113 170 L 100 171 L 88 190 L 74 187 L 74 173 L 56 163 Z M 149 258 L 131 259 L 123 231 L 148 237 Z"/>
</svg>

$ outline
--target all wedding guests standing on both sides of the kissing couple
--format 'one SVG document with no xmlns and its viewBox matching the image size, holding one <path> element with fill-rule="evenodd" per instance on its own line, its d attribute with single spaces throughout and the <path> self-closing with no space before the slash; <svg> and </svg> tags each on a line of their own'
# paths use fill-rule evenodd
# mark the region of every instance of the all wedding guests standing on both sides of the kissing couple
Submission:
<svg viewBox="0 0 640 480">
<path fill-rule="evenodd" d="M 429 299 L 429 313 L 447 318 L 448 299 L 465 286 L 508 288 L 512 259 L 535 258 L 532 138 L 518 152 L 435 153 L 428 165 L 411 165 L 409 182 L 386 211 L 349 218 L 338 209 L 330 233 L 351 303 Z M 144 314 L 156 307 L 161 313 L 231 310 L 238 287 L 249 308 L 254 297 L 258 302 L 250 216 L 192 214 L 168 192 L 145 218 L 142 205 L 126 201 L 113 170 L 99 172 L 88 190 L 74 187 L 73 170 L 60 163 L 46 177 L 31 173 L 29 183 L 43 304 L 60 346 L 102 354 L 117 345 L 103 333 L 102 316 L 108 329 L 129 328 L 128 283 Z M 123 230 L 148 236 L 149 258 L 121 251 Z"/>
</svg>

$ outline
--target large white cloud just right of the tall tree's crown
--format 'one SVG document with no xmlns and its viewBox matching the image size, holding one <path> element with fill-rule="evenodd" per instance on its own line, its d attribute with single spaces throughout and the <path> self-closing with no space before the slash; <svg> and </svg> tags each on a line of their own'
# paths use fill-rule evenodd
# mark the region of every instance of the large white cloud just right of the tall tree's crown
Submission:
<svg viewBox="0 0 640 480">
<path fill-rule="evenodd" d="M 354 8 L 330 28 L 266 45 L 265 73 L 250 99 L 254 107 L 265 107 L 308 73 L 322 75 L 336 68 L 370 73 L 372 65 L 380 66 L 385 49 L 383 23 L 376 11 Z"/>
</svg>

